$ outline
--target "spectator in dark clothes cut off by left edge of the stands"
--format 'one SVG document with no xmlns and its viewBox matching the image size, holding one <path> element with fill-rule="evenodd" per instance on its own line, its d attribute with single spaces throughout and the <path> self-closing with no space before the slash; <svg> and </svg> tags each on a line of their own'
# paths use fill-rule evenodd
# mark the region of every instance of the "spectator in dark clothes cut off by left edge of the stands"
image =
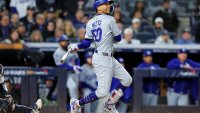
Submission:
<svg viewBox="0 0 200 113">
<path fill-rule="evenodd" d="M 3 15 L 0 17 L 0 41 L 9 38 L 11 27 L 9 26 L 9 16 Z"/>
</svg>

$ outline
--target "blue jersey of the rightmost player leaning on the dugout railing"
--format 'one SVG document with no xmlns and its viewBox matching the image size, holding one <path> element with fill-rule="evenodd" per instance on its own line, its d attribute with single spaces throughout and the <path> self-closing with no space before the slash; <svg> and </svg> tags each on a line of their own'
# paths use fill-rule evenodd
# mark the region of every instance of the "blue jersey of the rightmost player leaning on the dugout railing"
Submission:
<svg viewBox="0 0 200 113">
<path fill-rule="evenodd" d="M 174 58 L 171 61 L 168 62 L 167 68 L 168 69 L 181 69 L 182 65 L 189 65 L 192 68 L 199 68 L 200 63 L 194 62 L 190 59 L 186 60 L 185 62 L 180 62 L 178 58 Z M 189 92 L 190 86 L 191 86 L 191 80 L 186 79 L 178 79 L 174 80 L 172 84 L 169 84 L 171 88 L 174 89 L 177 93 L 186 94 Z"/>
</svg>

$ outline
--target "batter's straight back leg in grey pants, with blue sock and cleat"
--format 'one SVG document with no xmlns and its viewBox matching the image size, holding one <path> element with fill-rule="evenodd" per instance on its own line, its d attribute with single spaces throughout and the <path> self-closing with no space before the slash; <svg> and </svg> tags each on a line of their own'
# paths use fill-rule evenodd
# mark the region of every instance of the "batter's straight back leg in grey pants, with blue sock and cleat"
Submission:
<svg viewBox="0 0 200 113">
<path fill-rule="evenodd" d="M 95 74 L 97 76 L 97 82 L 98 82 L 97 90 L 80 100 L 71 99 L 70 105 L 72 113 L 75 113 L 80 108 L 80 106 L 94 102 L 99 98 L 104 98 L 109 94 L 112 72 L 113 72 L 111 61 L 112 61 L 111 57 L 98 56 L 94 54 L 92 62 Z"/>
</svg>

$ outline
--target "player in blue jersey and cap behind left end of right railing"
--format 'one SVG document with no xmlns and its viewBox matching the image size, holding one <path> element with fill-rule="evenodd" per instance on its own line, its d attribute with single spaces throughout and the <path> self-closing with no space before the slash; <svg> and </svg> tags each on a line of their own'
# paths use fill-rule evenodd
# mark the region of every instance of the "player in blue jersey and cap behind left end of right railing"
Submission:
<svg viewBox="0 0 200 113">
<path fill-rule="evenodd" d="M 153 63 L 152 51 L 145 50 L 143 52 L 143 62 L 138 65 L 139 69 L 159 69 L 158 64 Z M 159 80 L 144 79 L 143 82 L 143 104 L 145 106 L 156 106 L 158 104 Z"/>
</svg>

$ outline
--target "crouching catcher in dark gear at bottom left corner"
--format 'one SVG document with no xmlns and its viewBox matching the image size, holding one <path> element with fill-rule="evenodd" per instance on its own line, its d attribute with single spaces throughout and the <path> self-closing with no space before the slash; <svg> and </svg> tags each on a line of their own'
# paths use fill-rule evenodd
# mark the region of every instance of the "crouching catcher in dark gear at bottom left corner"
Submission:
<svg viewBox="0 0 200 113">
<path fill-rule="evenodd" d="M 0 64 L 0 87 L 3 89 L 3 94 L 5 96 L 0 98 L 0 113 L 39 113 L 42 108 L 42 101 L 38 99 L 37 102 L 34 104 L 33 108 L 18 105 L 14 103 L 13 97 L 9 94 L 9 91 L 4 84 L 4 69 L 3 66 Z"/>
</svg>

